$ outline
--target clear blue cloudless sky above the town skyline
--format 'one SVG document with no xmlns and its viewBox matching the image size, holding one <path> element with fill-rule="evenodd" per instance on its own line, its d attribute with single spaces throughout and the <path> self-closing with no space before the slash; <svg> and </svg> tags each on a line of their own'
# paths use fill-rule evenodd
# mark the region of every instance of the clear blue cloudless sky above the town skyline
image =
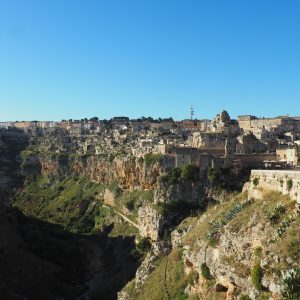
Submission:
<svg viewBox="0 0 300 300">
<path fill-rule="evenodd" d="M 300 115 L 299 0 L 0 0 L 0 120 Z"/>
</svg>

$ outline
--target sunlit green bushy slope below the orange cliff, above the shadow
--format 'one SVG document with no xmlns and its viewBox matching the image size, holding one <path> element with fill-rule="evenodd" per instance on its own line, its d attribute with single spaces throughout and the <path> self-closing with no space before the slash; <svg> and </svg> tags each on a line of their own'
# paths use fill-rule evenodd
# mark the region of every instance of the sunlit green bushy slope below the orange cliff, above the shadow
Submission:
<svg viewBox="0 0 300 300">
<path fill-rule="evenodd" d="M 25 184 L 13 205 L 26 215 L 63 225 L 68 231 L 87 233 L 95 225 L 101 201 L 96 197 L 104 186 L 82 177 L 49 183 L 35 178 Z"/>
</svg>

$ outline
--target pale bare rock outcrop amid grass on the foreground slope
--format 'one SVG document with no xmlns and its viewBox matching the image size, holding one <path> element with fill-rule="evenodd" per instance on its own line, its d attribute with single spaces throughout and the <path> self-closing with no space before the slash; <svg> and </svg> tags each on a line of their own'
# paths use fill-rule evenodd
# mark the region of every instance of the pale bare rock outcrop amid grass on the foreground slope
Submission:
<svg viewBox="0 0 300 300">
<path fill-rule="evenodd" d="M 267 201 L 264 201 L 260 208 L 266 209 L 267 205 Z M 204 224 L 208 217 L 211 215 L 203 215 L 198 220 L 197 226 Z M 281 224 L 286 220 L 294 222 L 298 217 L 299 207 L 296 205 Z M 278 238 L 280 231 L 274 227 L 274 224 L 272 225 L 270 220 L 262 219 L 257 212 L 252 213 L 247 220 L 239 225 L 235 224 L 235 227 L 230 227 L 230 223 L 225 225 L 220 231 L 216 245 L 212 245 L 205 238 L 197 240 L 193 247 L 185 241 L 180 241 L 184 249 L 182 259 L 185 271 L 186 273 L 196 271 L 201 277 L 203 266 L 205 266 L 216 281 L 216 292 L 222 288 L 227 293 L 227 300 L 236 300 L 237 295 L 240 294 L 248 295 L 251 299 L 258 299 L 261 293 L 253 284 L 252 270 L 254 264 L 259 264 L 263 274 L 261 279 L 263 290 L 268 291 L 275 297 L 274 299 L 277 299 L 281 285 L 278 263 L 284 263 L 290 268 L 297 263 L 291 258 L 279 257 L 272 252 L 276 247 L 274 243 L 281 243 L 281 240 Z M 177 236 L 177 234 L 174 235 Z M 176 240 L 177 237 L 174 242 Z M 175 246 L 177 245 L 176 242 Z M 200 280 L 187 291 L 199 292 L 203 290 L 201 284 Z"/>
</svg>

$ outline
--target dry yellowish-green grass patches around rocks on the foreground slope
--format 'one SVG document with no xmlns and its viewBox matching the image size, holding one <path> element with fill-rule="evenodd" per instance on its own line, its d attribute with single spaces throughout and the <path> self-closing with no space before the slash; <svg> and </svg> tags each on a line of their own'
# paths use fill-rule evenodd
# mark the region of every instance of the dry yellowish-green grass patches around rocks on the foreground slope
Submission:
<svg viewBox="0 0 300 300">
<path fill-rule="evenodd" d="M 227 226 L 226 230 L 243 234 L 243 231 L 248 228 L 248 225 L 255 226 L 258 223 L 265 224 L 264 226 L 269 226 L 271 229 L 273 228 L 274 232 L 276 232 L 279 224 L 271 224 L 268 221 L 269 212 L 274 210 L 278 203 L 282 203 L 285 207 L 285 211 L 281 213 L 280 218 L 285 218 L 289 214 L 292 213 L 295 207 L 295 201 L 291 200 L 288 196 L 284 196 L 280 193 L 268 192 L 264 193 L 263 199 L 254 200 L 250 205 L 246 206 L 243 210 L 241 210 L 238 214 L 231 219 Z M 190 219 L 188 222 L 194 224 L 194 227 L 190 232 L 185 236 L 185 244 L 191 246 L 192 250 L 197 250 L 197 247 L 202 247 L 203 242 L 208 244 L 207 241 L 207 232 L 210 229 L 209 223 L 214 220 L 221 220 L 226 212 L 230 211 L 237 203 L 240 203 L 246 198 L 245 195 L 240 194 L 239 196 L 222 203 L 216 206 L 210 206 L 205 214 L 207 217 L 199 224 L 195 222 L 194 219 Z M 254 219 L 253 219 L 254 218 Z M 251 224 L 249 223 L 250 219 L 252 219 Z M 182 222 L 184 224 L 184 222 Z M 183 226 L 183 225 L 181 225 Z M 297 266 L 300 263 L 300 218 L 298 217 L 296 221 L 292 222 L 290 227 L 287 229 L 286 234 L 280 238 L 275 243 L 269 243 L 264 245 L 264 249 L 254 249 L 254 260 L 255 266 L 252 270 L 255 285 L 258 289 L 261 289 L 260 280 L 261 280 L 261 269 L 257 267 L 260 263 L 260 259 L 266 249 L 272 251 L 273 255 L 278 255 L 278 257 L 283 258 L 276 265 L 276 270 L 271 270 L 270 266 L 266 266 L 264 272 L 275 272 L 280 273 L 280 270 L 285 270 L 288 268 L 288 263 L 286 262 L 286 258 L 290 257 L 293 263 L 297 262 Z M 222 230 L 221 230 L 222 234 Z M 202 243 L 197 243 L 197 241 L 202 241 Z M 202 246 L 201 246 L 202 244 Z M 198 246 L 199 245 L 199 246 Z M 213 245 L 217 247 L 216 245 Z M 249 267 L 246 267 L 244 264 L 238 262 L 236 259 L 236 255 L 228 255 L 221 258 L 225 264 L 228 264 L 235 268 L 238 275 L 241 277 L 248 277 L 251 273 Z M 263 298 L 262 298 L 263 299 Z"/>
</svg>

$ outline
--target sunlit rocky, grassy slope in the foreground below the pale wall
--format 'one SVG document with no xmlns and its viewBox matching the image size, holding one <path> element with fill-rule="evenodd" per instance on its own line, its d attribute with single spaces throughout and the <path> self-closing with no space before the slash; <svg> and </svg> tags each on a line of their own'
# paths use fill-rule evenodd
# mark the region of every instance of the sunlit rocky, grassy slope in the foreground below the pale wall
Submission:
<svg viewBox="0 0 300 300">
<path fill-rule="evenodd" d="M 299 205 L 288 196 L 242 193 L 185 219 L 171 253 L 119 299 L 300 299 L 299 229 Z"/>
</svg>

